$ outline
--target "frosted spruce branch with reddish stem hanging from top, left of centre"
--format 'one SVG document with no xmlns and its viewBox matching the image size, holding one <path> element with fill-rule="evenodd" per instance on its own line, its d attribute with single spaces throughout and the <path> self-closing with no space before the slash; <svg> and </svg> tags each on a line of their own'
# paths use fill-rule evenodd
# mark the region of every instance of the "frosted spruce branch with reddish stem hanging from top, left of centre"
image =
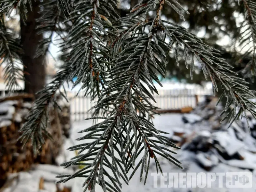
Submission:
<svg viewBox="0 0 256 192">
<path fill-rule="evenodd" d="M 111 55 L 103 41 L 104 36 L 114 34 L 112 23 L 118 21 L 115 1 L 78 1 L 74 3 L 74 11 L 67 21 L 77 19 L 69 32 L 68 43 L 72 65 L 80 63 L 76 71 L 77 80 L 73 86 L 83 84 L 86 94 L 100 95 L 106 82 Z M 80 12 L 83 10 L 82 12 Z"/>
</svg>

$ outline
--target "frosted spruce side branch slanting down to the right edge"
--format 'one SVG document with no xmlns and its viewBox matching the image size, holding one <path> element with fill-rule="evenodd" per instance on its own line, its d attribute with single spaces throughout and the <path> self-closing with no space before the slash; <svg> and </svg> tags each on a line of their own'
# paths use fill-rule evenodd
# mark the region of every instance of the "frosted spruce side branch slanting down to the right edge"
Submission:
<svg viewBox="0 0 256 192">
<path fill-rule="evenodd" d="M 248 89 L 248 86 L 246 86 L 246 84 L 249 83 L 245 82 L 242 78 L 234 76 L 237 74 L 231 71 L 233 67 L 225 62 L 225 60 L 219 58 L 218 50 L 204 44 L 196 35 L 187 32 L 185 28 L 177 28 L 177 26 L 172 25 L 168 21 L 163 21 L 163 24 L 170 25 L 165 27 L 168 31 L 166 34 L 170 38 L 170 43 L 169 45 L 163 43 L 162 46 L 169 46 L 169 50 L 174 49 L 177 63 L 179 58 L 177 48 L 181 46 L 184 49 L 184 59 L 187 68 L 187 60 L 191 60 L 191 78 L 193 78 L 193 71 L 195 71 L 194 60 L 196 59 L 201 64 L 205 78 L 210 77 L 211 79 L 213 94 L 215 95 L 215 92 L 219 91 L 219 87 L 222 89 L 223 93 L 221 97 L 225 96 L 227 98 L 226 107 L 223 111 L 223 113 L 226 112 L 224 119 L 229 118 L 228 122 L 231 125 L 231 123 L 242 114 L 245 115 L 248 121 L 247 112 L 250 112 L 256 117 L 254 110 L 256 106 L 255 102 L 250 100 L 255 96 L 253 92 Z M 238 111 L 236 110 L 237 107 Z"/>
</svg>

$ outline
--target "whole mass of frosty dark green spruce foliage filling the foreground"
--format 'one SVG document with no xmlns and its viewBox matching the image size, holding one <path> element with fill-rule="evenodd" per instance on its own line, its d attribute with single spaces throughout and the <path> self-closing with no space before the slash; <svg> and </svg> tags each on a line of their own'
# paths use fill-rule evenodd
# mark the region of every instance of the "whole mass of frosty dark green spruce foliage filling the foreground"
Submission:
<svg viewBox="0 0 256 192">
<path fill-rule="evenodd" d="M 200 2 L 207 7 L 211 1 Z M 65 90 L 60 88 L 74 76 L 78 78 L 73 86 L 82 84 L 85 95 L 97 100 L 89 119 L 102 120 L 80 131 L 77 140 L 84 143 L 69 148 L 79 150 L 79 154 L 62 164 L 85 167 L 73 175 L 58 176 L 63 178 L 59 182 L 84 177 L 84 191 L 94 192 L 96 183 L 103 191 L 121 191 L 122 180 L 128 184 L 137 169 L 140 180 L 143 171 L 147 175 L 151 158 L 162 172 L 156 154 L 182 168 L 170 154 L 176 153 L 172 148 L 179 147 L 151 122 L 154 94 L 158 94 L 153 81 L 161 85 L 157 75 L 165 77 L 169 55 L 175 57 L 178 66 L 183 59 L 191 78 L 195 63 L 200 64 L 205 78 L 212 82 L 213 93 L 221 90 L 221 97 L 226 97 L 224 112 L 230 123 L 242 115 L 247 119 L 248 112 L 256 117 L 256 104 L 250 101 L 255 97 L 248 83 L 236 76 L 219 51 L 184 27 L 163 19 L 163 10 L 185 19 L 184 14 L 189 12 L 178 1 L 141 0 L 122 18 L 114 0 L 47 0 L 42 8 L 39 32 L 57 33 L 62 52 L 67 54 L 62 56 L 65 64 L 54 80 L 39 93 L 41 97 L 22 128 L 22 138 L 32 139 L 35 152 L 44 143 L 48 106 L 58 106 L 58 91 L 66 98 Z M 65 26 L 63 30 L 61 26 Z M 52 40 L 50 35 L 41 42 L 38 55 L 45 55 Z"/>
</svg>

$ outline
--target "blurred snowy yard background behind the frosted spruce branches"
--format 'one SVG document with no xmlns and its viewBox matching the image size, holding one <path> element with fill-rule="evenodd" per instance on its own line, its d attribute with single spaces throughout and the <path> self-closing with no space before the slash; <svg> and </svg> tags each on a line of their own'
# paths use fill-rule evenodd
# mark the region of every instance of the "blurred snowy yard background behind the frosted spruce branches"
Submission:
<svg viewBox="0 0 256 192">
<path fill-rule="evenodd" d="M 45 0 L 42 0 L 44 2 Z M 244 6 L 237 1 L 230 0 L 179 0 L 183 7 L 190 13 L 184 14 L 185 21 L 170 9 L 163 9 L 162 17 L 182 25 L 188 31 L 197 34 L 205 43 L 221 52 L 221 57 L 233 65 L 240 77 L 245 77 L 250 86 L 255 89 L 251 73 L 243 69 L 250 61 L 250 55 L 238 46 L 241 24 L 244 21 Z M 120 14 L 129 13 L 136 5 L 137 0 L 121 0 Z M 62 110 L 50 110 L 50 129 L 53 141 L 46 140 L 39 156 L 34 157 L 29 143 L 24 147 L 17 141 L 20 126 L 30 110 L 35 93 L 49 83 L 58 68 L 63 64 L 59 47 L 60 34 L 48 31 L 38 34 L 35 20 L 40 16 L 40 1 L 33 2 L 33 14 L 29 12 L 27 25 L 20 22 L 20 16 L 15 10 L 5 17 L 5 24 L 13 34 L 20 39 L 24 56 L 23 70 L 26 81 L 20 80 L 19 87 L 14 93 L 6 89 L 4 83 L 5 63 L 0 67 L 0 192 L 21 191 L 83 191 L 83 178 L 56 185 L 58 179 L 55 175 L 70 174 L 75 169 L 72 167 L 63 170 L 58 165 L 70 160 L 76 155 L 75 151 L 66 150 L 74 144 L 79 144 L 75 139 L 81 129 L 90 126 L 93 122 L 84 121 L 91 117 L 89 110 L 95 102 L 84 97 L 83 92 L 76 97 L 81 85 L 72 90 L 66 84 L 69 102 L 58 96 L 58 104 Z M 208 6 L 210 5 L 210 6 Z M 151 14 L 151 13 L 149 13 Z M 55 26 L 54 26 L 55 27 Z M 63 27 L 61 35 L 65 35 L 70 26 Z M 35 49 L 42 40 L 49 40 L 44 45 L 44 53 L 35 58 Z M 160 158 L 162 169 L 166 172 L 251 172 L 256 178 L 256 120 L 249 116 L 250 132 L 247 129 L 245 118 L 233 122 L 227 129 L 227 122 L 220 123 L 219 114 L 224 109 L 222 103 L 216 107 L 218 98 L 212 95 L 212 85 L 205 80 L 199 63 L 193 79 L 190 70 L 186 69 L 184 60 L 179 61 L 177 67 L 175 54 L 168 56 L 168 72 L 165 78 L 160 78 L 163 88 L 156 84 L 159 95 L 155 95 L 159 107 L 153 122 L 157 129 L 169 132 L 169 139 L 180 146 L 177 159 L 183 163 L 184 170 L 179 170 L 171 163 Z M 75 80 L 75 78 L 74 78 Z M 7 82 L 8 83 L 8 82 Z M 72 87 L 72 86 L 71 86 Z M 216 95 L 218 96 L 218 95 Z M 150 167 L 150 172 L 156 172 L 155 166 Z M 33 182 L 31 182 L 31 180 Z M 160 177 L 159 177 L 160 179 Z M 169 179 L 167 179 L 169 180 Z M 226 182 L 226 179 L 224 179 Z M 242 191 L 242 189 L 219 188 L 216 184 L 211 189 L 198 188 L 153 188 L 153 177 L 148 174 L 146 186 L 139 182 L 139 173 L 132 178 L 130 185 L 123 191 Z M 217 181 L 216 181 L 217 182 Z M 255 183 L 253 183 L 255 186 Z M 126 184 L 125 184 L 126 185 Z M 101 191 L 101 189 L 97 189 Z M 247 191 L 255 191 L 250 188 Z"/>
</svg>

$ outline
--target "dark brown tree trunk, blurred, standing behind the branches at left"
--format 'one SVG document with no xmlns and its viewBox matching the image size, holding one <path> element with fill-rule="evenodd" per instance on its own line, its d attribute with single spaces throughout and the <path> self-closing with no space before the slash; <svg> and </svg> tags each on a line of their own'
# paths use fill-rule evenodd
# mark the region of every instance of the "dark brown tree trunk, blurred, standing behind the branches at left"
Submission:
<svg viewBox="0 0 256 192">
<path fill-rule="evenodd" d="M 24 55 L 22 57 L 25 77 L 24 92 L 35 94 L 41 90 L 45 85 L 45 66 L 43 65 L 44 57 L 40 56 L 34 58 L 38 42 L 42 40 L 43 35 L 38 35 L 35 31 L 35 19 L 40 15 L 39 3 L 40 1 L 31 1 L 33 10 L 28 8 L 28 19 L 26 25 L 20 22 L 21 44 L 23 46 Z"/>
</svg>

